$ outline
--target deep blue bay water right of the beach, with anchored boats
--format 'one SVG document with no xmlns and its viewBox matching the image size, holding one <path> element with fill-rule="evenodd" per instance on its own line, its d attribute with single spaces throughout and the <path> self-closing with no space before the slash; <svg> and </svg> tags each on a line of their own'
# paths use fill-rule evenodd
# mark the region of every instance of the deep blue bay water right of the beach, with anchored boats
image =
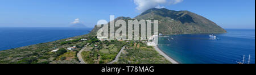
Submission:
<svg viewBox="0 0 256 75">
<path fill-rule="evenodd" d="M 237 64 L 246 55 L 255 64 L 255 30 L 228 29 L 226 34 L 171 35 L 159 38 L 159 48 L 180 63 Z M 169 41 L 168 41 L 169 40 Z"/>
</svg>

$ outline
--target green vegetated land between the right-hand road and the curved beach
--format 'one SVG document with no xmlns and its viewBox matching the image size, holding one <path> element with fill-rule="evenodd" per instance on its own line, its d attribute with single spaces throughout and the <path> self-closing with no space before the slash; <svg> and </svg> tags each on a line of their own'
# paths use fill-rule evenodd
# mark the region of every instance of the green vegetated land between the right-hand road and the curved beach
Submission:
<svg viewBox="0 0 256 75">
<path fill-rule="evenodd" d="M 119 57 L 117 64 L 171 64 L 154 47 L 144 43 L 130 43 Z"/>
</svg>

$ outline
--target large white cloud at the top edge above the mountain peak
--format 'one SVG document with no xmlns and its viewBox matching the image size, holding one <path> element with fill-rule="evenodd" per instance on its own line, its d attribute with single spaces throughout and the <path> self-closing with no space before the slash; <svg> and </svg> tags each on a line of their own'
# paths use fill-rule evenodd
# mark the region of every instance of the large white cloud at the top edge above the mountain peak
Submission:
<svg viewBox="0 0 256 75">
<path fill-rule="evenodd" d="M 175 5 L 177 3 L 182 2 L 183 0 L 134 0 L 135 5 L 137 5 L 136 9 L 139 11 L 145 11 L 148 9 L 152 9 L 156 7 L 158 9 L 164 8 L 160 5 Z"/>
</svg>

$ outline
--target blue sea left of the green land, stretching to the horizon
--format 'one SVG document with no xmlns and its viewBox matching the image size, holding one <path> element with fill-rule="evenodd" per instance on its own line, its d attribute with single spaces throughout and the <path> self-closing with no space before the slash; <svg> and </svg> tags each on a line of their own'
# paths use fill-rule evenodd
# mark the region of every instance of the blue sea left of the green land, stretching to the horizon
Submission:
<svg viewBox="0 0 256 75">
<path fill-rule="evenodd" d="M 0 27 L 0 51 L 88 34 L 92 28 Z"/>
</svg>

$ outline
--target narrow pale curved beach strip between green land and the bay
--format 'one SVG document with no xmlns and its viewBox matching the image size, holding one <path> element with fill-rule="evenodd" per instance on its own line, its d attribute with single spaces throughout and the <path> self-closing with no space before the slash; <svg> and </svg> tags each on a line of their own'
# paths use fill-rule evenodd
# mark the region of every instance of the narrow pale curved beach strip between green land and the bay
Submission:
<svg viewBox="0 0 256 75">
<path fill-rule="evenodd" d="M 162 55 L 164 58 L 166 58 L 168 61 L 172 62 L 172 64 L 179 64 L 179 62 L 175 61 L 174 59 L 172 59 L 170 56 L 166 55 L 166 53 L 164 53 L 161 49 L 158 48 L 158 46 L 156 45 L 155 50 Z"/>
</svg>

